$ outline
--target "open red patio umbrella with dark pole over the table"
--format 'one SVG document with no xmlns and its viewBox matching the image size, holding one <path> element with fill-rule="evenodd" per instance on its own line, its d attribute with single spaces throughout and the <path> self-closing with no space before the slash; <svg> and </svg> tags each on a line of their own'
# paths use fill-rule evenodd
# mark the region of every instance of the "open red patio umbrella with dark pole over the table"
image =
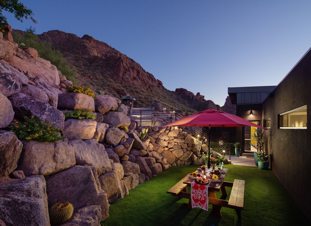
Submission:
<svg viewBox="0 0 311 226">
<path fill-rule="evenodd" d="M 239 116 L 232 115 L 215 109 L 207 109 L 196 114 L 189 115 L 177 121 L 171 122 L 165 126 L 208 126 L 208 164 L 210 162 L 210 147 L 211 147 L 211 127 L 238 127 L 238 126 L 253 126 L 261 129 L 267 129 L 260 125 L 256 125 L 248 120 L 242 119 Z"/>
</svg>

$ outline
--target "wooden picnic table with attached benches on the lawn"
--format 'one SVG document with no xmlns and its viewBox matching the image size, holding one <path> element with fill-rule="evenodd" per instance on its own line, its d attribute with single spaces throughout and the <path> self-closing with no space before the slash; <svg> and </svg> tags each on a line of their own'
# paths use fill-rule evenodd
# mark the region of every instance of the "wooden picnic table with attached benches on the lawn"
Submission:
<svg viewBox="0 0 311 226">
<path fill-rule="evenodd" d="M 241 219 L 241 210 L 244 207 L 244 185 L 245 181 L 234 179 L 234 182 L 224 181 L 225 176 L 227 175 L 228 169 L 224 168 L 226 174 L 224 175 L 223 182 L 211 182 L 208 186 L 208 203 L 213 206 L 213 212 L 216 216 L 221 217 L 220 209 L 221 207 L 227 207 L 235 209 L 238 220 Z M 191 183 L 194 179 L 189 178 L 189 174 L 187 174 L 183 179 L 177 182 L 173 187 L 171 187 L 167 193 L 189 199 L 188 208 L 192 209 L 191 205 L 191 194 L 188 193 L 187 188 L 191 187 Z M 222 197 L 226 198 L 228 193 L 225 187 L 232 187 L 229 201 L 225 199 L 218 199 L 216 197 L 216 192 L 222 193 Z"/>
</svg>

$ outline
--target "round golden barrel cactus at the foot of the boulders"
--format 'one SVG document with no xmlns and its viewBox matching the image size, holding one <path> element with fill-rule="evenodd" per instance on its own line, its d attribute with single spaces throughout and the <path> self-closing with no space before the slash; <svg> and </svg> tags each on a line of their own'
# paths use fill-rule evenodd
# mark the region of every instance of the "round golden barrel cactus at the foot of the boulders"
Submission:
<svg viewBox="0 0 311 226">
<path fill-rule="evenodd" d="M 73 205 L 68 201 L 60 201 L 54 204 L 49 210 L 50 222 L 61 224 L 69 220 L 73 214 Z"/>
</svg>

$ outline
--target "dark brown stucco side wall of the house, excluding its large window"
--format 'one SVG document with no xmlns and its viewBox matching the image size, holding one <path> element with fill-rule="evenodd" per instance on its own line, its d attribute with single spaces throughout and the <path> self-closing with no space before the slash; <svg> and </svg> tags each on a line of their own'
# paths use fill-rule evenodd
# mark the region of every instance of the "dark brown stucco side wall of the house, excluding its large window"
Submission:
<svg viewBox="0 0 311 226">
<path fill-rule="evenodd" d="M 262 103 L 262 119 L 271 117 L 274 131 L 272 170 L 311 220 L 311 52 L 274 93 L 273 98 L 268 97 Z M 278 129 L 279 114 L 304 105 L 307 105 L 307 129 Z"/>
</svg>

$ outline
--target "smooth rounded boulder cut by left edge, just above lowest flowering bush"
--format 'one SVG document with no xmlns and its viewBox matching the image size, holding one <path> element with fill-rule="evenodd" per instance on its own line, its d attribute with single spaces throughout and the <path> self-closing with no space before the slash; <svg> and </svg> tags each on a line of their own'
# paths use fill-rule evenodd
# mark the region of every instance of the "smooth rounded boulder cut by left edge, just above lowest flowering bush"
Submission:
<svg viewBox="0 0 311 226">
<path fill-rule="evenodd" d="M 11 102 L 0 92 L 0 128 L 10 125 L 14 118 L 14 111 Z"/>
</svg>

